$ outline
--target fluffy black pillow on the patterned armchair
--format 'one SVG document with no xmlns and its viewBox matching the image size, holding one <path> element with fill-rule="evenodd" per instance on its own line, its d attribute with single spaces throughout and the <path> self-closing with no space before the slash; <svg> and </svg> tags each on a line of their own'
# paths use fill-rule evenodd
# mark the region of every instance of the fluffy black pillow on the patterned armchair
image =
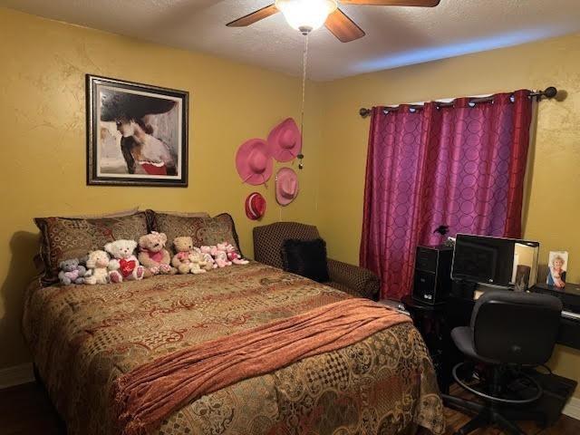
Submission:
<svg viewBox="0 0 580 435">
<path fill-rule="evenodd" d="M 319 283 L 330 281 L 326 265 L 326 242 L 322 238 L 285 240 L 281 254 L 285 271 L 305 276 Z"/>
</svg>

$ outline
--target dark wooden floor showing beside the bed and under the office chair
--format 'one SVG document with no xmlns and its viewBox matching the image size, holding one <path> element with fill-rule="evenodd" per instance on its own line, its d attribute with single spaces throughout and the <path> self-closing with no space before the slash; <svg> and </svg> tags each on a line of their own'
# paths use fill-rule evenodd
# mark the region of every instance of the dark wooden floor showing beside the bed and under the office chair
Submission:
<svg viewBox="0 0 580 435">
<path fill-rule="evenodd" d="M 469 417 L 446 409 L 447 435 L 459 429 Z M 555 426 L 546 430 L 532 423 L 523 423 L 528 435 L 579 435 L 580 420 L 563 415 Z M 472 435 L 500 435 L 497 429 L 478 430 Z M 64 430 L 43 389 L 35 383 L 0 390 L 0 434 L 2 435 L 63 435 Z"/>
</svg>

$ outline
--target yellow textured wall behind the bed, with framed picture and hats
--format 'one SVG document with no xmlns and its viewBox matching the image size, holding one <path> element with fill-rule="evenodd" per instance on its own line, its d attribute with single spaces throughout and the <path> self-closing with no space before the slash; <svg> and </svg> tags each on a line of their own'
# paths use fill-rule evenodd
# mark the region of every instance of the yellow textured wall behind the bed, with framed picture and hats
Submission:
<svg viewBox="0 0 580 435">
<path fill-rule="evenodd" d="M 22 295 L 34 275 L 36 216 L 102 213 L 139 205 L 165 210 L 227 211 L 252 256 L 237 146 L 266 137 L 275 123 L 298 118 L 300 81 L 216 57 L 44 20 L 0 8 L 0 368 L 28 360 L 20 333 Z M 85 186 L 84 74 L 190 92 L 189 188 Z M 316 102 L 316 87 L 308 89 Z M 309 104 L 310 113 L 319 113 Z M 316 116 L 312 117 L 316 121 Z M 274 179 L 266 217 L 314 223 L 316 130 L 306 123 L 301 193 L 277 207 Z M 260 225 L 260 224 L 258 224 Z"/>
</svg>

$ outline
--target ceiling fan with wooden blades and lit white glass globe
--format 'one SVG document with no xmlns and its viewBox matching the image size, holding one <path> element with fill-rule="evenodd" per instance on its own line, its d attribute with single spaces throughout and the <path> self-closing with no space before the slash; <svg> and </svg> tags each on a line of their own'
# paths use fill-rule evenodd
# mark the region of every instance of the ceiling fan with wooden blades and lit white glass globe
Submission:
<svg viewBox="0 0 580 435">
<path fill-rule="evenodd" d="M 302 34 L 323 24 L 343 43 L 362 38 L 364 31 L 338 8 L 338 5 L 422 6 L 434 7 L 440 0 L 275 0 L 256 12 L 227 23 L 229 27 L 245 27 L 282 12 L 286 21 Z"/>
</svg>

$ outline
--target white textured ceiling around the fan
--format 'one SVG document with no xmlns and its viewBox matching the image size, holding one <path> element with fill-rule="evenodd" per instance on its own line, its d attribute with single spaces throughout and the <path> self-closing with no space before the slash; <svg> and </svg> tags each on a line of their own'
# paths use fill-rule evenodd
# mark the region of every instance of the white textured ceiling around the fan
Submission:
<svg viewBox="0 0 580 435">
<path fill-rule="evenodd" d="M 0 0 L 67 23 L 301 73 L 303 36 L 276 14 L 245 28 L 226 23 L 271 0 Z M 310 36 L 309 78 L 331 80 L 580 31 L 580 0 L 441 0 L 435 8 L 341 6 L 366 32 L 340 43 Z"/>
</svg>

